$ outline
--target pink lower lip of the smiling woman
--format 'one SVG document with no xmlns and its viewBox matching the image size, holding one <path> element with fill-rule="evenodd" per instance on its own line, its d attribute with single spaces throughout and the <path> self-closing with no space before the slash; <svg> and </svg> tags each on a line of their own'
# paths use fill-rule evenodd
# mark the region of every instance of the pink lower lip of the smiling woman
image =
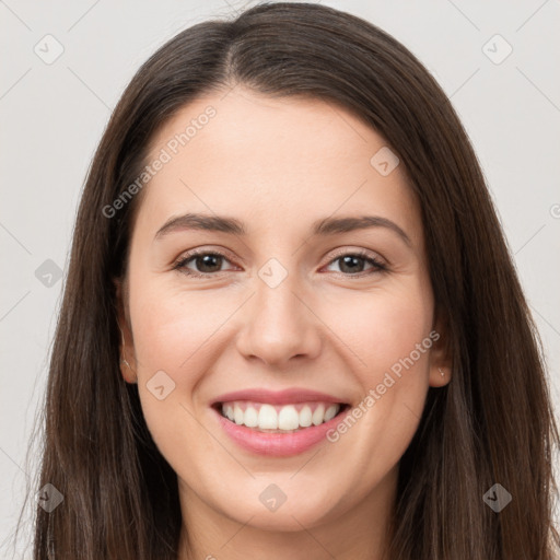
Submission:
<svg viewBox="0 0 560 560">
<path fill-rule="evenodd" d="M 328 422 L 304 428 L 292 433 L 259 432 L 253 428 L 236 424 L 224 418 L 218 410 L 212 410 L 218 416 L 218 421 L 225 433 L 244 450 L 259 455 L 287 457 L 299 455 L 325 440 L 326 433 L 345 418 L 350 408 L 337 415 Z"/>
</svg>

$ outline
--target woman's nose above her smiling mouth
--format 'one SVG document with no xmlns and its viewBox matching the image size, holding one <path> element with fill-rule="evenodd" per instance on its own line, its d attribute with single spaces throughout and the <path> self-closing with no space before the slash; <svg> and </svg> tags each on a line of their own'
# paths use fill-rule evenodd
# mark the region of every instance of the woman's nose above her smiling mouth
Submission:
<svg viewBox="0 0 560 560">
<path fill-rule="evenodd" d="M 320 319 L 311 298 L 289 279 L 276 288 L 256 279 L 237 337 L 237 350 L 247 360 L 285 369 L 295 358 L 313 359 L 320 352 Z"/>
</svg>

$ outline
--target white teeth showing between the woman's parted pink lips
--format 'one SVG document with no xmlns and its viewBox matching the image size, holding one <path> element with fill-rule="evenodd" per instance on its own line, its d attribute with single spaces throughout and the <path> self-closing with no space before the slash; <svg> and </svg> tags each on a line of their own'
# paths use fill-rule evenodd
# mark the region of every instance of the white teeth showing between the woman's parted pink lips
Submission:
<svg viewBox="0 0 560 560">
<path fill-rule="evenodd" d="M 320 401 L 270 405 L 235 400 L 215 402 L 212 408 L 230 422 L 256 432 L 294 433 L 332 420 L 350 408 L 350 405 Z"/>
</svg>

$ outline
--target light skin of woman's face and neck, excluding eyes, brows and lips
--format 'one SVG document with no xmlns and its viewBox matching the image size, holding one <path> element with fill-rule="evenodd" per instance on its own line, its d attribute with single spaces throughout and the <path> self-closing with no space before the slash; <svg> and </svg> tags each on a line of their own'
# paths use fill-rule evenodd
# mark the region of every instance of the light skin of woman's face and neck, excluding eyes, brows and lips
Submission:
<svg viewBox="0 0 560 560">
<path fill-rule="evenodd" d="M 178 476 L 179 559 L 381 559 L 399 459 L 428 388 L 450 381 L 441 331 L 337 442 L 295 456 L 240 448 L 209 402 L 241 388 L 305 387 L 357 406 L 438 329 L 417 201 L 402 165 L 382 176 L 370 164 L 386 142 L 349 112 L 242 85 L 184 107 L 152 139 L 149 160 L 208 105 L 217 115 L 144 187 L 118 285 L 122 375 L 138 383 Z M 186 212 L 236 218 L 247 233 L 184 229 L 154 241 Z M 363 214 L 393 221 L 410 245 L 383 226 L 311 236 L 315 220 Z M 174 270 L 195 248 L 225 253 L 220 271 L 200 259 L 186 267 L 206 278 Z M 340 255 L 358 249 L 387 270 L 365 259 L 349 270 Z M 270 258 L 288 272 L 273 289 L 258 276 Z M 175 383 L 162 400 L 147 387 L 160 370 Z M 259 500 L 271 483 L 287 495 L 275 512 Z"/>
</svg>

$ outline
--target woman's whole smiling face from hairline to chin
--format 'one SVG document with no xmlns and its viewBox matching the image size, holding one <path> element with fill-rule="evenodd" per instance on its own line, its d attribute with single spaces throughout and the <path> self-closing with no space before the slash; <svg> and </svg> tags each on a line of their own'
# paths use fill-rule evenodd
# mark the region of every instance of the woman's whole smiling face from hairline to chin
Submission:
<svg viewBox="0 0 560 560">
<path fill-rule="evenodd" d="M 450 377 L 402 165 L 339 106 L 240 85 L 177 113 L 148 163 L 124 353 L 184 516 L 386 512 Z"/>
</svg>

